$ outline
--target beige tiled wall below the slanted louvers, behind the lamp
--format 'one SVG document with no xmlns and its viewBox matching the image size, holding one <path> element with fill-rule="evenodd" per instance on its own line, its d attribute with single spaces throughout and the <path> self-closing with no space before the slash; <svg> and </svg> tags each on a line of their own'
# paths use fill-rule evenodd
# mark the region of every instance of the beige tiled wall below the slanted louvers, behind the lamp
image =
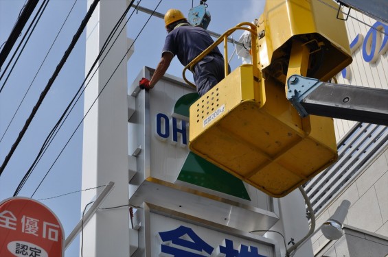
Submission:
<svg viewBox="0 0 388 257">
<path fill-rule="evenodd" d="M 365 169 L 333 199 L 317 216 L 316 228 L 328 220 L 341 201 L 351 202 L 344 224 L 388 236 L 388 144 L 372 158 Z M 328 240 L 319 230 L 312 236 L 315 254 Z M 321 256 L 321 255 L 318 255 Z"/>
</svg>

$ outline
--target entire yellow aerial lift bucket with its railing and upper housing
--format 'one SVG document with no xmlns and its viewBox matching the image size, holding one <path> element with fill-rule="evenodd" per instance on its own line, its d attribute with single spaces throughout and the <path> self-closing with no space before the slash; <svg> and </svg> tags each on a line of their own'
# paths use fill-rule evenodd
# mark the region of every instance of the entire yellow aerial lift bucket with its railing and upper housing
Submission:
<svg viewBox="0 0 388 257">
<path fill-rule="evenodd" d="M 291 15 L 293 8 L 299 10 L 300 5 L 308 5 L 304 8 L 310 8 L 310 12 L 307 13 L 310 15 L 309 19 L 312 19 L 314 10 L 309 5 L 310 2 L 314 1 L 271 0 L 267 1 L 266 11 L 277 11 L 277 15 L 287 17 L 293 16 Z M 284 8 L 282 6 L 284 4 L 288 5 L 288 8 Z M 276 10 L 276 8 L 279 9 Z M 319 17 L 325 16 L 320 14 Z M 297 19 L 297 16 L 294 18 Z M 276 19 L 273 21 L 279 23 Z M 350 51 L 346 51 L 346 49 L 349 50 L 349 46 L 337 43 L 345 42 L 343 39 L 332 35 L 330 40 L 326 38 L 322 40 L 316 31 L 317 27 L 314 26 L 304 29 L 303 33 L 307 35 L 289 33 L 288 40 L 282 39 L 283 45 L 273 42 L 274 30 L 271 30 L 272 35 L 269 36 L 270 29 L 266 24 L 273 21 L 262 20 L 261 25 L 240 23 L 225 32 L 214 43 L 218 45 L 223 37 L 224 46 L 227 45 L 226 38 L 232 31 L 237 27 L 241 29 L 242 25 L 249 25 L 250 28 L 244 29 L 251 32 L 253 65 L 240 66 L 192 104 L 190 150 L 255 188 L 273 197 L 283 197 L 323 171 L 337 158 L 332 119 L 312 115 L 300 117 L 297 110 L 286 99 L 285 79 L 293 74 L 306 75 L 314 69 L 310 64 L 314 51 L 317 51 L 317 44 L 322 49 L 326 46 L 325 51 L 343 53 L 339 57 L 339 62 L 333 61 L 334 65 L 328 64 L 331 65 L 330 73 L 332 70 L 338 73 L 345 64 L 351 62 L 351 57 Z M 340 22 L 343 23 L 343 21 Z M 339 29 L 341 30 L 341 26 Z M 343 29 L 345 29 L 344 26 Z M 286 31 L 295 31 L 295 29 L 286 29 Z M 346 35 L 345 30 L 340 32 L 337 30 L 336 33 Z M 260 35 L 259 39 L 258 35 Z M 269 37 L 266 38 L 267 36 Z M 306 44 L 303 38 L 308 42 L 316 38 L 318 42 Z M 256 46 L 255 42 L 257 42 Z M 330 47 L 327 47 L 328 44 Z M 192 69 L 214 45 L 190 62 L 185 69 Z M 275 48 L 271 48 L 273 46 Z M 269 49 L 273 49 L 272 55 L 267 54 Z M 277 69 L 278 61 L 282 59 L 284 62 L 284 58 L 288 59 L 286 66 Z M 227 60 L 226 50 L 225 60 Z M 185 78 L 185 69 L 183 78 Z M 319 78 L 326 77 L 319 71 L 315 73 L 319 74 Z"/>
</svg>

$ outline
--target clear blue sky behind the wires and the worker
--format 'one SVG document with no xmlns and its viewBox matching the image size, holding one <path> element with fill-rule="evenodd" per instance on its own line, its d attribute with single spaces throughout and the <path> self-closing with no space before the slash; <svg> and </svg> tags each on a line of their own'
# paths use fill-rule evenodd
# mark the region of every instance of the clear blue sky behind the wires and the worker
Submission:
<svg viewBox="0 0 388 257">
<path fill-rule="evenodd" d="M 59 34 L 41 71 L 36 76 L 34 83 L 32 83 L 39 66 L 41 66 L 47 51 L 51 47 L 71 6 L 75 2 L 76 4 L 74 5 L 73 11 L 67 19 L 62 32 Z M 8 38 L 24 3 L 25 0 L 0 0 L 0 45 Z M 42 1 L 39 1 L 38 7 L 41 3 Z M 143 0 L 140 5 L 154 10 L 158 3 L 159 0 Z M 157 12 L 165 13 L 170 8 L 178 8 L 183 14 L 188 14 L 190 8 L 192 8 L 193 5 L 196 6 L 198 4 L 199 0 L 163 0 L 157 8 Z M 240 22 L 257 19 L 262 13 L 264 0 L 208 0 L 207 4 L 209 5 L 207 10 L 212 14 L 212 21 L 208 29 L 217 32 L 218 34 L 222 34 L 227 29 Z M 76 33 L 86 12 L 86 0 L 55 0 L 50 1 L 47 5 L 41 21 L 39 21 L 36 26 L 34 33 L 6 82 L 3 91 L 0 93 L 0 138 L 3 137 L 0 142 L 1 163 L 8 154 L 8 151 L 10 151 L 14 140 L 17 138 L 21 128 L 25 124 L 39 95 L 46 86 L 49 77 L 52 76 L 52 73 L 56 69 L 60 58 L 62 58 L 63 53 L 65 53 L 73 34 Z M 130 13 L 131 12 L 132 10 L 130 10 Z M 121 14 L 117 14 L 117 19 L 119 15 Z M 146 23 L 148 17 L 149 14 L 144 14 L 143 12 L 133 14 L 132 18 L 128 21 L 128 37 L 135 38 L 141 27 Z M 30 24 L 30 21 L 27 25 Z M 20 42 L 26 29 L 27 26 L 23 29 L 23 34 L 19 37 L 16 45 Z M 233 38 L 238 39 L 240 34 L 241 32 L 233 34 Z M 137 41 L 135 42 L 135 53 L 128 61 L 128 84 L 133 83 L 133 80 L 143 66 L 150 66 L 151 68 L 157 66 L 165 37 L 166 30 L 164 29 L 163 20 L 152 17 L 143 32 L 141 32 L 139 38 L 137 38 Z M 16 49 L 16 47 L 14 49 Z M 231 57 L 233 49 L 234 46 L 229 44 L 229 58 Z M 82 84 L 85 74 L 84 50 L 85 34 L 82 34 L 82 37 L 73 49 L 64 68 L 58 75 L 56 82 L 54 82 L 52 88 L 49 90 L 36 117 L 34 117 L 29 129 L 21 140 L 19 147 L 14 152 L 10 162 L 3 171 L 3 174 L 0 176 L 0 201 L 12 197 L 19 182 L 36 158 L 47 134 L 52 130 L 52 127 L 56 121 L 58 121 L 60 115 L 67 107 L 67 104 Z M 222 49 L 220 50 L 222 51 Z M 13 51 L 11 52 L 11 55 Z M 3 73 L 6 64 L 8 64 L 10 56 L 5 64 L 3 64 L 0 75 Z M 232 69 L 236 68 L 240 63 L 240 60 L 234 56 L 231 61 Z M 12 65 L 10 68 L 11 67 Z M 8 68 L 8 71 L 0 80 L 0 87 L 5 82 L 5 78 L 7 77 L 10 68 Z M 181 66 L 177 58 L 174 58 L 167 73 L 175 75 L 176 77 L 181 77 L 182 70 L 183 66 Z M 29 92 L 21 104 L 19 111 L 16 113 L 14 120 L 10 123 L 30 85 L 32 86 Z M 54 138 L 52 145 L 50 145 L 47 152 L 38 163 L 38 166 L 33 171 L 30 179 L 27 180 L 19 196 L 32 196 L 32 193 L 34 193 L 38 184 L 41 182 L 47 171 L 49 171 L 67 140 L 69 140 L 73 131 L 76 130 L 76 126 L 80 123 L 83 116 L 83 108 L 83 101 L 81 98 L 76 105 L 76 108 L 74 108 L 69 115 L 69 118 L 60 129 L 60 132 L 58 132 L 58 135 Z M 9 124 L 10 127 L 5 133 Z M 70 140 L 69 145 L 67 145 L 51 171 L 49 171 L 47 178 L 45 178 L 33 198 L 43 199 L 84 189 L 81 188 L 81 155 L 82 126 Z M 65 229 L 65 236 L 67 236 L 78 223 L 84 208 L 84 206 L 80 206 L 80 193 L 47 199 L 42 202 L 56 213 Z M 65 256 L 78 256 L 78 253 L 79 241 L 77 240 L 69 247 Z"/>
</svg>

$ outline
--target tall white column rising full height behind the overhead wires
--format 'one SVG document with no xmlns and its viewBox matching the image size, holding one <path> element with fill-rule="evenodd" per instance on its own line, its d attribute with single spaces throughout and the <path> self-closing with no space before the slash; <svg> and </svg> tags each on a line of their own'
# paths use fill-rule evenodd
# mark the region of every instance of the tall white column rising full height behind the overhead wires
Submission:
<svg viewBox="0 0 388 257">
<path fill-rule="evenodd" d="M 93 0 L 87 1 L 88 8 L 92 2 Z M 87 25 L 86 73 L 125 9 L 126 0 L 100 1 Z M 103 90 L 84 119 L 82 156 L 82 188 L 100 186 L 109 181 L 115 182 L 113 191 L 105 199 L 101 208 L 128 204 L 126 58 L 115 71 L 126 53 L 126 42 L 126 29 L 124 29 L 87 86 L 84 95 L 84 113 L 86 113 Z M 115 75 L 109 80 L 114 71 Z M 106 82 L 108 82 L 107 86 L 105 86 Z M 98 188 L 98 191 L 102 190 L 103 188 Z M 98 191 L 82 192 L 82 210 L 89 201 L 93 200 Z M 83 233 L 83 256 L 128 257 L 128 208 L 98 210 Z"/>
</svg>

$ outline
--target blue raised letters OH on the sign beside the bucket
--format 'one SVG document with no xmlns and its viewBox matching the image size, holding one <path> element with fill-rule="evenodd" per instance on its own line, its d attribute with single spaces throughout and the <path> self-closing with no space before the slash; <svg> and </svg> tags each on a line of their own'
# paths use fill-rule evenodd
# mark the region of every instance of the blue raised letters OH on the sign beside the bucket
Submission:
<svg viewBox="0 0 388 257">
<path fill-rule="evenodd" d="M 179 120 L 175 117 L 172 117 L 170 121 L 170 118 L 166 114 L 158 113 L 156 116 L 157 138 L 166 140 L 171 134 L 173 144 L 180 143 L 183 146 L 187 145 L 187 121 Z"/>
</svg>

